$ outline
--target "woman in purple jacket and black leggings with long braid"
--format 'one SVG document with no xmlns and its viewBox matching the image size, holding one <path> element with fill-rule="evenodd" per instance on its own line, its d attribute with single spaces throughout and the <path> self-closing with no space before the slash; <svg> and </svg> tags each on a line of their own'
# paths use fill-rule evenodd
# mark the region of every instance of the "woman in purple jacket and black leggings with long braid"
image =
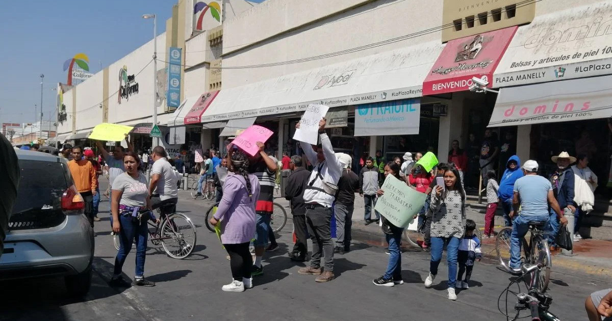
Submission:
<svg viewBox="0 0 612 321">
<path fill-rule="evenodd" d="M 259 182 L 247 172 L 248 158 L 242 152 L 231 155 L 230 174 L 223 185 L 223 198 L 211 224 L 221 223 L 221 242 L 230 254 L 230 284 L 223 286 L 227 292 L 243 292 L 253 287 L 251 267 L 253 257 L 248 244 L 255 235 L 255 202 L 259 197 Z"/>
</svg>

